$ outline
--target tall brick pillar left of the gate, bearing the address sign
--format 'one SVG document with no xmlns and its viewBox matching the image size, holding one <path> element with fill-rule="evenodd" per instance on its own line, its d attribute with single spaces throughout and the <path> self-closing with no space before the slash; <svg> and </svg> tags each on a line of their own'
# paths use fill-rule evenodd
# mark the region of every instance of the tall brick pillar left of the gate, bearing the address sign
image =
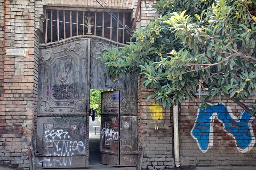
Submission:
<svg viewBox="0 0 256 170">
<path fill-rule="evenodd" d="M 29 169 L 27 148 L 35 143 L 36 132 L 38 35 L 33 2 L 4 1 L 4 50 L 25 49 L 29 56 L 3 53 L 0 164 L 24 169 Z"/>
</svg>

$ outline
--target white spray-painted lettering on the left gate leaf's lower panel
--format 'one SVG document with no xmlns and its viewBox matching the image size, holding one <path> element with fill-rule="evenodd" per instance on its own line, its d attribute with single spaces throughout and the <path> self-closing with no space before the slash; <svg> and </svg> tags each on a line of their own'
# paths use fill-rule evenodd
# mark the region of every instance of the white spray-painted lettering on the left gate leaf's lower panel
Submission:
<svg viewBox="0 0 256 170">
<path fill-rule="evenodd" d="M 54 120 L 60 121 L 56 117 Z M 61 120 L 70 121 L 70 119 Z M 48 155 L 39 161 L 39 165 L 44 167 L 70 166 L 73 155 L 85 153 L 85 143 L 79 140 L 80 135 L 85 135 L 85 124 L 78 123 L 80 118 L 71 118 L 71 120 L 77 123 L 69 122 L 68 128 L 54 129 L 54 123 L 44 123 L 43 148 L 46 149 Z"/>
</svg>

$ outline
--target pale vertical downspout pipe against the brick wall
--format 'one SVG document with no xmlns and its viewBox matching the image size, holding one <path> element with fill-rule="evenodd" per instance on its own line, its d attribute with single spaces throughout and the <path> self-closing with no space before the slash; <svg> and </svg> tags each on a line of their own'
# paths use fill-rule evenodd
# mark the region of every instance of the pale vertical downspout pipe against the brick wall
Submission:
<svg viewBox="0 0 256 170">
<path fill-rule="evenodd" d="M 178 105 L 173 105 L 173 132 L 174 132 L 174 161 L 177 167 L 180 166 L 179 156 L 179 131 L 178 131 Z"/>
</svg>

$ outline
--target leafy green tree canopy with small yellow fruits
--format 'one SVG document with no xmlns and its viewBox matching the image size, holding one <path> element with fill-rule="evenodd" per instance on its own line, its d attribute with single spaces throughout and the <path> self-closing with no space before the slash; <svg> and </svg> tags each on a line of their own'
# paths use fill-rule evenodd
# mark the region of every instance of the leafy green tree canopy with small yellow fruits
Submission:
<svg viewBox="0 0 256 170">
<path fill-rule="evenodd" d="M 126 74 L 143 77 L 163 107 L 199 91 L 201 106 L 221 94 L 255 116 L 241 101 L 256 95 L 256 1 L 161 0 L 161 15 L 133 33 L 134 42 L 99 57 L 113 81 Z M 208 88 L 208 90 L 207 90 Z"/>
</svg>

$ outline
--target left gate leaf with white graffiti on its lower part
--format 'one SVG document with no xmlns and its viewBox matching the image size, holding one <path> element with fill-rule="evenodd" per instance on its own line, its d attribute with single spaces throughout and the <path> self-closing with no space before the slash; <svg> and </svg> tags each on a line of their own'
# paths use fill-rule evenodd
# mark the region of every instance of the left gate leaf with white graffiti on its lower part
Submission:
<svg viewBox="0 0 256 170">
<path fill-rule="evenodd" d="M 40 47 L 37 167 L 88 167 L 89 45 L 84 38 Z"/>
</svg>

